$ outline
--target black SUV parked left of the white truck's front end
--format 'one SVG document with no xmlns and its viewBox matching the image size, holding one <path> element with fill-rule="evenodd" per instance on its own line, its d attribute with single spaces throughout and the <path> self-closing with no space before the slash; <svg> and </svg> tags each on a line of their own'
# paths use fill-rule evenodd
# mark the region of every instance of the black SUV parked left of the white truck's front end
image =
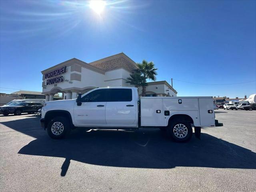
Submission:
<svg viewBox="0 0 256 192">
<path fill-rule="evenodd" d="M 20 115 L 22 113 L 32 114 L 42 108 L 42 104 L 38 102 L 19 102 L 7 106 L 0 107 L 0 114 L 8 115 L 15 114 Z"/>
</svg>

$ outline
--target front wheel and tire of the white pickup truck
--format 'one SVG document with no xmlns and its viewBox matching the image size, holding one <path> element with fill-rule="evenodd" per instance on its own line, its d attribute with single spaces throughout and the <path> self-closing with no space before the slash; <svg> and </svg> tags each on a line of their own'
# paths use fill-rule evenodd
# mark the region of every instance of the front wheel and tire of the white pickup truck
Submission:
<svg viewBox="0 0 256 192">
<path fill-rule="evenodd" d="M 54 117 L 47 126 L 47 133 L 52 139 L 62 139 L 70 132 L 70 122 L 64 117 Z"/>
</svg>

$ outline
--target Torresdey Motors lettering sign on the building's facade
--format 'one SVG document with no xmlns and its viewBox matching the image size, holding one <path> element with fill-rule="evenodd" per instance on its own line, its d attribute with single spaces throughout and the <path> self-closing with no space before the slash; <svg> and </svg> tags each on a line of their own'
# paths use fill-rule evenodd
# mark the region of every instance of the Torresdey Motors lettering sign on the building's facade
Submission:
<svg viewBox="0 0 256 192">
<path fill-rule="evenodd" d="M 64 66 L 44 74 L 44 78 L 46 79 L 46 85 L 63 82 L 64 80 L 63 76 L 58 76 L 58 75 L 66 73 L 66 68 L 67 67 Z"/>
</svg>

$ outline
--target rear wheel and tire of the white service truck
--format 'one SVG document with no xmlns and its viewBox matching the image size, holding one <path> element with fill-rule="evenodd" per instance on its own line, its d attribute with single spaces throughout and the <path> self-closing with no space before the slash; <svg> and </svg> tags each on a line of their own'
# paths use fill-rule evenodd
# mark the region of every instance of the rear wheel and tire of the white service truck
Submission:
<svg viewBox="0 0 256 192">
<path fill-rule="evenodd" d="M 175 142 L 188 142 L 193 134 L 192 126 L 184 120 L 173 120 L 167 128 L 168 135 Z"/>
</svg>

